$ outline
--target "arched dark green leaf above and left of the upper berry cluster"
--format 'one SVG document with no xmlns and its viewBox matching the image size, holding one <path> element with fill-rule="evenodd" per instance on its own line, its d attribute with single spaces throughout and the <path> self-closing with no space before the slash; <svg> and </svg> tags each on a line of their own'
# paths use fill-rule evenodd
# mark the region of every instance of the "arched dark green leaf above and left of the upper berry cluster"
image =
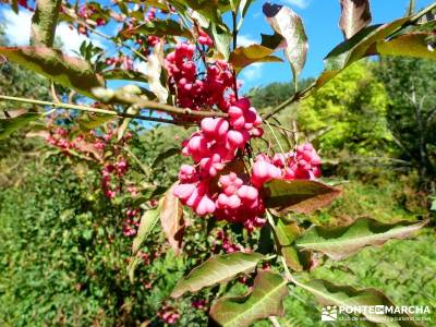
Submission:
<svg viewBox="0 0 436 327">
<path fill-rule="evenodd" d="M 154 35 L 154 36 L 168 36 L 168 35 L 173 35 L 173 36 L 183 36 L 191 38 L 192 34 L 189 29 L 183 27 L 182 24 L 172 21 L 172 20 L 165 20 L 165 21 L 149 21 L 146 22 L 135 28 L 129 28 L 126 27 L 120 34 L 125 37 L 125 38 L 131 38 L 134 35 Z"/>
</svg>

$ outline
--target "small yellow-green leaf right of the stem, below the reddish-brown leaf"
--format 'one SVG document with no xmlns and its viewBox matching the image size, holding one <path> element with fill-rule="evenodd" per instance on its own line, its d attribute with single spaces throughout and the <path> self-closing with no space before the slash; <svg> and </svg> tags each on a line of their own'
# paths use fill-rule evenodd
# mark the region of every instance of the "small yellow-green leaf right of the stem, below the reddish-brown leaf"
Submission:
<svg viewBox="0 0 436 327">
<path fill-rule="evenodd" d="M 303 270 L 299 253 L 295 249 L 295 240 L 300 237 L 300 228 L 295 221 L 278 219 L 276 225 L 277 247 L 283 256 L 288 267 L 295 271 Z"/>
</svg>

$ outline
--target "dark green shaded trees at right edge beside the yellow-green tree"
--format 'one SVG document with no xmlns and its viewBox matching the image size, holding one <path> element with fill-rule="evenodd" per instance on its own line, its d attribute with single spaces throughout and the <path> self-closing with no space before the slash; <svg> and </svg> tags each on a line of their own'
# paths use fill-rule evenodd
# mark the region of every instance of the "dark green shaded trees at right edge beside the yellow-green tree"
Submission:
<svg viewBox="0 0 436 327">
<path fill-rule="evenodd" d="M 389 95 L 387 119 L 399 158 L 419 171 L 421 183 L 436 177 L 436 74 L 432 61 L 389 58 L 376 70 Z M 426 187 L 431 189 L 429 183 Z M 435 187 L 433 185 L 433 187 Z"/>
</svg>

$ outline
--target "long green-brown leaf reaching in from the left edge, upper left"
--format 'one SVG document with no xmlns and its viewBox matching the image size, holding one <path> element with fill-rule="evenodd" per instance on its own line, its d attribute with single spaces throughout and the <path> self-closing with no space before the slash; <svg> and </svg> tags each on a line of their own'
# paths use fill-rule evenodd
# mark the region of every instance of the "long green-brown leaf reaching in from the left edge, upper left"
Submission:
<svg viewBox="0 0 436 327">
<path fill-rule="evenodd" d="M 43 46 L 0 47 L 0 55 L 89 97 L 93 97 L 92 88 L 105 85 L 104 78 L 93 71 L 88 62 L 80 58 L 68 57 L 60 50 Z"/>
</svg>

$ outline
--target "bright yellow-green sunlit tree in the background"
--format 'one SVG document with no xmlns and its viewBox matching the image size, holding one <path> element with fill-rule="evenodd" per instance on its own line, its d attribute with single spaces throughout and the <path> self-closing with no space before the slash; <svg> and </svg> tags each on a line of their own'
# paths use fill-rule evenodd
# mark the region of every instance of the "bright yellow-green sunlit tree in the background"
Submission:
<svg viewBox="0 0 436 327">
<path fill-rule="evenodd" d="M 316 140 L 323 154 L 377 156 L 388 150 L 388 97 L 372 68 L 370 62 L 352 65 L 299 107 L 300 130 Z"/>
</svg>

